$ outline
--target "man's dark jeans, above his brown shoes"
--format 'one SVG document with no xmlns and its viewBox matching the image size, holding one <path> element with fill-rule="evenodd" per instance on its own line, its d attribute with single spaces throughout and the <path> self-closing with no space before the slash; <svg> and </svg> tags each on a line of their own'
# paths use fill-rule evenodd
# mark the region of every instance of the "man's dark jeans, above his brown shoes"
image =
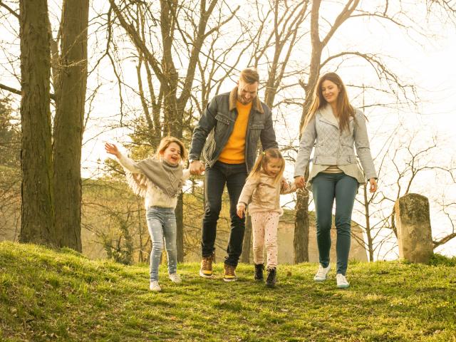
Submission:
<svg viewBox="0 0 456 342">
<path fill-rule="evenodd" d="M 242 164 L 226 164 L 215 162 L 214 166 L 205 172 L 206 177 L 206 206 L 202 219 L 202 256 L 209 257 L 214 253 L 214 243 L 217 234 L 217 219 L 222 209 L 222 195 L 225 184 L 229 195 L 229 216 L 231 217 L 231 230 L 227 247 L 228 257 L 225 263 L 237 266 L 242 253 L 244 240 L 245 218 L 239 218 L 236 213 L 237 200 L 247 179 L 247 167 Z"/>
</svg>

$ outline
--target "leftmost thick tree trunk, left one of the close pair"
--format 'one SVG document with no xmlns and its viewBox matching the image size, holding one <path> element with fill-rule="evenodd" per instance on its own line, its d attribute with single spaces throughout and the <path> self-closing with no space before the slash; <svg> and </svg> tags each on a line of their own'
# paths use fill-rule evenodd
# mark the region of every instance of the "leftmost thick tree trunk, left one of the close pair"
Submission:
<svg viewBox="0 0 456 342">
<path fill-rule="evenodd" d="M 46 0 L 21 0 L 21 242 L 52 245 L 51 48 Z"/>
</svg>

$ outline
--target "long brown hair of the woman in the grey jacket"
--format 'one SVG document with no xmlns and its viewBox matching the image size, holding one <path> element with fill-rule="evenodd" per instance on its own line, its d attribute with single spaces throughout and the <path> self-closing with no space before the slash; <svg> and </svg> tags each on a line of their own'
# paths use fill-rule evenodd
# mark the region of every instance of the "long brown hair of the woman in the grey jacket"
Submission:
<svg viewBox="0 0 456 342">
<path fill-rule="evenodd" d="M 309 112 L 307 112 L 306 118 L 304 120 L 303 130 L 306 125 L 308 125 L 309 122 L 315 117 L 316 111 L 328 104 L 328 102 L 323 97 L 323 93 L 321 93 L 321 85 L 324 81 L 333 82 L 338 87 L 338 90 L 340 90 L 340 93 L 337 97 L 337 113 L 335 114 L 338 115 L 339 128 L 341 131 L 348 130 L 348 122 L 350 120 L 350 117 L 355 118 L 355 109 L 350 104 L 346 87 L 337 73 L 325 73 L 318 79 L 318 82 L 316 83 L 314 89 L 314 95 L 312 98 L 311 106 L 309 108 Z"/>
</svg>

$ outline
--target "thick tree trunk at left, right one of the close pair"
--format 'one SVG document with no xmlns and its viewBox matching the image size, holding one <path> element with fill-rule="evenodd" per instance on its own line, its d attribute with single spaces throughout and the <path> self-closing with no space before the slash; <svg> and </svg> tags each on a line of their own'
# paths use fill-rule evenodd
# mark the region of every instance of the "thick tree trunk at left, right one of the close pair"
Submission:
<svg viewBox="0 0 456 342">
<path fill-rule="evenodd" d="M 88 0 L 63 1 L 54 121 L 54 198 L 59 247 L 82 251 L 81 145 L 87 89 Z"/>
</svg>

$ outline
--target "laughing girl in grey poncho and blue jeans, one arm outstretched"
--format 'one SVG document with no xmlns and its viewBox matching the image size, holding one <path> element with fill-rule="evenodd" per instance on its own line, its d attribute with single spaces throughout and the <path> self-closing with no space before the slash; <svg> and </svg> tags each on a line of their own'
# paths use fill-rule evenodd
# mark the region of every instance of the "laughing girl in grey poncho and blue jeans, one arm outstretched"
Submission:
<svg viewBox="0 0 456 342">
<path fill-rule="evenodd" d="M 160 141 L 154 157 L 135 162 L 122 155 L 114 144 L 105 144 L 106 152 L 115 155 L 126 171 L 128 185 L 137 195 L 145 197 L 147 227 L 152 240 L 150 252 L 150 290 L 161 291 L 158 284 L 158 266 L 165 238 L 168 273 L 173 283 L 180 283 L 177 274 L 176 217 L 177 196 L 189 170 L 182 170 L 181 162 L 187 157 L 184 144 L 177 138 Z"/>
</svg>

